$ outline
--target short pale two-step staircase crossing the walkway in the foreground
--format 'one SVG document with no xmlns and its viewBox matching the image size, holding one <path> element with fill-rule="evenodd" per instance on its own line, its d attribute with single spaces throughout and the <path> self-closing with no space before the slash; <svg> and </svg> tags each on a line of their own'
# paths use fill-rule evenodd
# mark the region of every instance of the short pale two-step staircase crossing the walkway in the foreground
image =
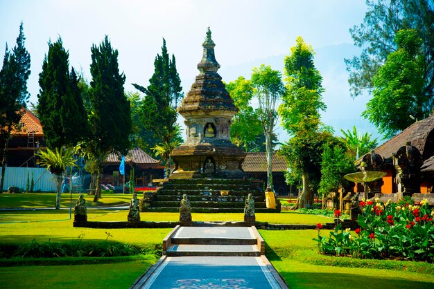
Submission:
<svg viewBox="0 0 434 289">
<path fill-rule="evenodd" d="M 167 257 L 260 257 L 264 243 L 256 227 L 177 226 L 163 241 Z"/>
</svg>

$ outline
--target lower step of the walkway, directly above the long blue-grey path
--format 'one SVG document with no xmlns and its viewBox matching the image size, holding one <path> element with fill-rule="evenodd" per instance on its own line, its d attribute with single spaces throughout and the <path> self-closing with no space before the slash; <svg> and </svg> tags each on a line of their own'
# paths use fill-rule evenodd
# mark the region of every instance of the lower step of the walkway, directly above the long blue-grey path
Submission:
<svg viewBox="0 0 434 289">
<path fill-rule="evenodd" d="M 171 245 L 166 251 L 168 257 L 180 256 L 243 256 L 259 257 L 257 245 Z"/>
</svg>

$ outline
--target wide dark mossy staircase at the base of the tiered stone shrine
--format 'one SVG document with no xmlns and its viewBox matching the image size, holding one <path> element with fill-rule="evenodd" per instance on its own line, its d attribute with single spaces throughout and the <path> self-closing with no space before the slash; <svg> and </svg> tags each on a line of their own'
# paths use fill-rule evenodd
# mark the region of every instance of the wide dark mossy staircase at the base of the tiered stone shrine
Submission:
<svg viewBox="0 0 434 289">
<path fill-rule="evenodd" d="M 169 179 L 164 180 L 148 207 L 141 212 L 178 212 L 182 195 L 189 196 L 192 212 L 243 212 L 245 199 L 252 194 L 256 212 L 267 209 L 261 181 L 243 179 Z M 222 193 L 227 192 L 227 195 Z"/>
</svg>

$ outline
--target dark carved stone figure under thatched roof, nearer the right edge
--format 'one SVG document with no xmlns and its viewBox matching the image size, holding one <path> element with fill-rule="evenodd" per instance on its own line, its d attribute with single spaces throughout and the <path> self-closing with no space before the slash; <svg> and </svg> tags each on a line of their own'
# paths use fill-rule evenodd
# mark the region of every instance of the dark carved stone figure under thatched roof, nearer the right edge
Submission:
<svg viewBox="0 0 434 289">
<path fill-rule="evenodd" d="M 397 171 L 397 183 L 403 188 L 403 196 L 411 196 L 420 192 L 420 167 L 423 160 L 419 149 L 410 142 L 400 147 L 393 155 L 393 165 Z"/>
</svg>

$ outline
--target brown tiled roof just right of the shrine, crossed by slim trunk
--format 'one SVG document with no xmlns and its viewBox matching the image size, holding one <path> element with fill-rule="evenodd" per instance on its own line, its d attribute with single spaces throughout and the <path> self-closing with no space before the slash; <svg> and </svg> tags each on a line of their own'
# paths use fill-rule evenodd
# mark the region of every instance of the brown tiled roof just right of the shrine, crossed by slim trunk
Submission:
<svg viewBox="0 0 434 289">
<path fill-rule="evenodd" d="M 272 171 L 286 171 L 288 165 L 283 156 L 278 156 L 276 153 L 271 155 Z M 267 171 L 266 153 L 247 153 L 243 165 L 243 171 Z"/>
</svg>

